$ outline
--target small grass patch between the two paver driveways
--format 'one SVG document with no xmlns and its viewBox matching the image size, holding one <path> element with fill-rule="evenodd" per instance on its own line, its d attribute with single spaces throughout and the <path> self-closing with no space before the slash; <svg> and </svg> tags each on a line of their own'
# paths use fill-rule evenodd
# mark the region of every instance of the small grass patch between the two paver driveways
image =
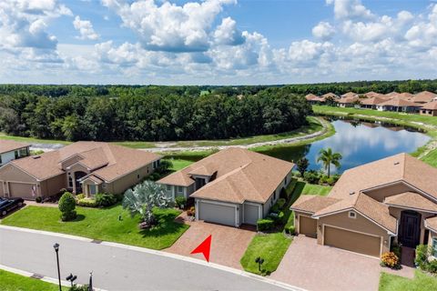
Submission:
<svg viewBox="0 0 437 291">
<path fill-rule="evenodd" d="M 250 273 L 269 275 L 278 268 L 291 241 L 292 239 L 290 237 L 282 233 L 257 235 L 253 237 L 248 249 L 239 262 L 241 266 Z M 255 259 L 259 256 L 264 259 L 264 264 L 262 264 L 260 272 L 258 264 L 255 262 Z"/>
</svg>

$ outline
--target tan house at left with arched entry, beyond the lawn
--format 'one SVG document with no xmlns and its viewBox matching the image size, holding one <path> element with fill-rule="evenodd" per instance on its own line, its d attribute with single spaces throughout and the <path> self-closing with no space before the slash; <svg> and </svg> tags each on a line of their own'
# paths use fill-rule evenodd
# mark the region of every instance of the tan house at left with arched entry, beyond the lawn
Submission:
<svg viewBox="0 0 437 291">
<path fill-rule="evenodd" d="M 98 142 L 77 142 L 0 167 L 0 196 L 33 200 L 66 189 L 75 194 L 124 193 L 159 166 L 161 156 Z"/>
</svg>

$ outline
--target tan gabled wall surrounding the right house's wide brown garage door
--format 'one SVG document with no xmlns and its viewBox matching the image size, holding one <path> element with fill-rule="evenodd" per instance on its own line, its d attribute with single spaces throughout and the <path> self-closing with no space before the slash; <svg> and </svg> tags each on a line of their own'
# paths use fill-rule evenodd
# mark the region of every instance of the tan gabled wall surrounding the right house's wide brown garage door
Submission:
<svg viewBox="0 0 437 291">
<path fill-rule="evenodd" d="M 323 225 L 337 226 L 344 229 L 353 230 L 363 234 L 382 237 L 382 253 L 390 250 L 390 236 L 387 230 L 372 223 L 369 219 L 356 213 L 355 218 L 349 217 L 349 211 L 345 211 L 336 215 L 323 216 L 317 222 L 317 243 L 323 245 Z"/>
</svg>

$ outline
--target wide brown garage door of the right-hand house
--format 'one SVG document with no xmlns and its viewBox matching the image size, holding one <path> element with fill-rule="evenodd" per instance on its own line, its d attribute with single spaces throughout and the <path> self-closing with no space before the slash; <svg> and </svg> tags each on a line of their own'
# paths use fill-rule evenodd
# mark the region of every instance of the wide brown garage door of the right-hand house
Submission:
<svg viewBox="0 0 437 291">
<path fill-rule="evenodd" d="M 368 256 L 380 256 L 381 237 L 325 226 L 324 244 Z"/>
</svg>

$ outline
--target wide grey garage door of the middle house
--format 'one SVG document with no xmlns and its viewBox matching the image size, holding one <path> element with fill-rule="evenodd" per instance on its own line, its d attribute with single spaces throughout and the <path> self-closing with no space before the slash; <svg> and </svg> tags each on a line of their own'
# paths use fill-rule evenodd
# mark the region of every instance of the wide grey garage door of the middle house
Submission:
<svg viewBox="0 0 437 291">
<path fill-rule="evenodd" d="M 198 219 L 225 226 L 235 226 L 234 206 L 218 205 L 208 202 L 198 203 Z"/>
</svg>

